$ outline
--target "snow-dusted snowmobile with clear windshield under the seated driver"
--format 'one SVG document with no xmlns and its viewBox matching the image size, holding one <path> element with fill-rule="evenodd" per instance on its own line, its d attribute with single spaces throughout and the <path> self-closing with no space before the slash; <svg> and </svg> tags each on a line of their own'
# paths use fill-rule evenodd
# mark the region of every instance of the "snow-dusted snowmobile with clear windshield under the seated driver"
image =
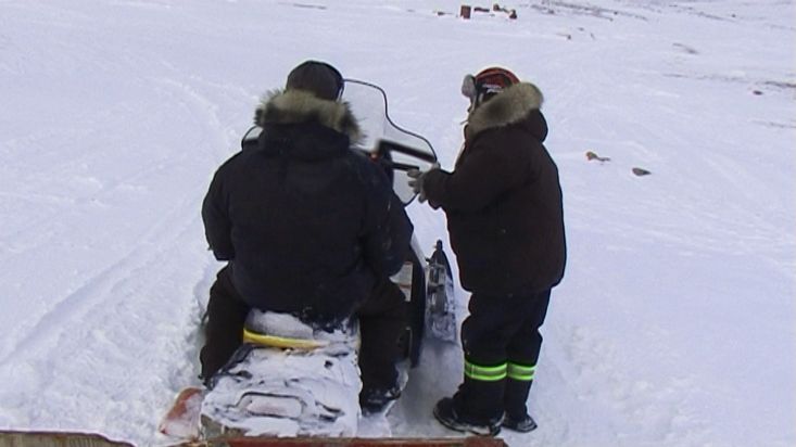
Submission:
<svg viewBox="0 0 796 447">
<path fill-rule="evenodd" d="M 426 138 L 392 122 L 387 95 L 378 86 L 346 79 L 343 100 L 365 136 L 355 150 L 386 169 L 396 195 L 408 205 L 416 194 L 408 187 L 407 173 L 437 163 L 433 148 Z M 241 149 L 256 144 L 261 131 L 251 128 Z M 391 278 L 404 292 L 409 316 L 400 342 L 406 370 L 418 365 L 425 336 L 456 341 L 453 280 L 442 242 L 437 242 L 430 257 L 415 239 L 412 247 L 404 267 Z M 211 379 L 207 391 L 197 387 L 180 393 L 160 426 L 162 433 L 184 439 L 357 435 L 362 382 L 356 321 L 327 332 L 289 315 L 254 309 L 247 319 L 243 342 Z M 408 371 L 401 375 L 405 384 Z M 389 431 L 384 413 L 381 425 Z"/>
</svg>

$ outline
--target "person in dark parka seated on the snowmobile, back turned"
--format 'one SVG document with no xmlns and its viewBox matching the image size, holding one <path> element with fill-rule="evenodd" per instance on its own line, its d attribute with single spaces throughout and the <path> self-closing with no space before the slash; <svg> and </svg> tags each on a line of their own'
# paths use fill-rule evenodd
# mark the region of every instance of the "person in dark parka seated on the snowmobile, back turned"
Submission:
<svg viewBox="0 0 796 447">
<path fill-rule="evenodd" d="M 215 173 L 202 218 L 210 247 L 227 266 L 207 304 L 205 383 L 241 345 L 251 308 L 324 330 L 363 310 L 397 321 L 389 333 L 363 330 L 363 349 L 378 352 L 363 358 L 363 397 L 382 405 L 397 397 L 388 348 L 403 329 L 403 316 L 392 315 L 401 292 L 384 282 L 404 263 L 412 224 L 382 167 L 351 149 L 359 126 L 339 101 L 342 90 L 331 65 L 300 64 L 285 90 L 255 111 L 257 140 Z"/>
</svg>

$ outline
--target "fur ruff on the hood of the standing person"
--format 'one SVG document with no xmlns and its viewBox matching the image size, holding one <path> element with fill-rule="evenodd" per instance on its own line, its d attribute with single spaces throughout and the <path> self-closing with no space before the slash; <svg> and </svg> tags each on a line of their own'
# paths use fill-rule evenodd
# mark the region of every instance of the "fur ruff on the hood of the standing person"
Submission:
<svg viewBox="0 0 796 447">
<path fill-rule="evenodd" d="M 529 112 L 540 110 L 543 101 L 539 87 L 530 82 L 515 84 L 470 112 L 466 138 L 470 139 L 487 129 L 519 123 Z"/>
</svg>

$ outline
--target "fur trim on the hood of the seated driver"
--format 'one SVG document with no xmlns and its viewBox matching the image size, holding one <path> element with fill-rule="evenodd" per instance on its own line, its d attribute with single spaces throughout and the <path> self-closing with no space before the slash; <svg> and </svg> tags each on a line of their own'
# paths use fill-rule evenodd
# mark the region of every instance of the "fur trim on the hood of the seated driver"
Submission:
<svg viewBox="0 0 796 447">
<path fill-rule="evenodd" d="M 274 90 L 261 100 L 254 111 L 254 124 L 299 124 L 317 122 L 359 141 L 362 131 L 351 106 L 345 102 L 323 100 L 304 90 Z"/>
</svg>

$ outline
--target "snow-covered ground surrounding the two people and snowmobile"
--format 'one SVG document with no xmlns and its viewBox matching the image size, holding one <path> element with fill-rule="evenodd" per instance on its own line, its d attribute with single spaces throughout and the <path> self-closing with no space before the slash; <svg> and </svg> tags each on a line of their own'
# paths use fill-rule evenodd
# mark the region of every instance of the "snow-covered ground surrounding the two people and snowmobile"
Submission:
<svg viewBox="0 0 796 447">
<path fill-rule="evenodd" d="M 510 446 L 796 444 L 795 2 L 459 4 L 0 0 L 0 429 L 155 443 L 219 267 L 210 177 L 258 97 L 321 59 L 384 87 L 447 168 L 465 74 L 505 65 L 546 95 L 569 264 L 540 429 Z M 441 212 L 409 213 L 429 251 L 446 240 Z M 454 436 L 431 407 L 460 353 L 422 361 L 393 434 Z"/>
</svg>

